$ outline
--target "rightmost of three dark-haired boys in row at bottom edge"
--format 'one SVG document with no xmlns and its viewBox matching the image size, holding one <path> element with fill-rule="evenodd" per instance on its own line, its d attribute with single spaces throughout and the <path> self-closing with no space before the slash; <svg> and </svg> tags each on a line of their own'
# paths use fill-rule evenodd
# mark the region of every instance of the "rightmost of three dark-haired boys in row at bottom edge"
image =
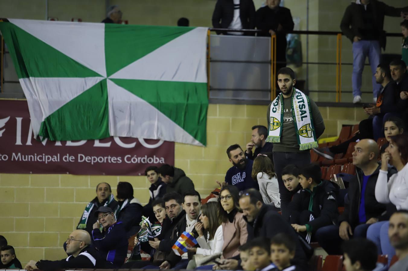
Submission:
<svg viewBox="0 0 408 271">
<path fill-rule="evenodd" d="M 295 258 L 296 241 L 287 234 L 279 233 L 271 239 L 271 261 L 276 265 L 273 271 L 299 270 L 290 263 Z"/>
</svg>

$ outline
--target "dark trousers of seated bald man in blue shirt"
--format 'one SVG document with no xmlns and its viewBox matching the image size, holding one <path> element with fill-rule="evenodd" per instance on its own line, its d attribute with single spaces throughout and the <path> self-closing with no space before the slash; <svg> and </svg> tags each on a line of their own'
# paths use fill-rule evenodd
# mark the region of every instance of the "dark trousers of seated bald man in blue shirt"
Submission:
<svg viewBox="0 0 408 271">
<path fill-rule="evenodd" d="M 353 236 L 349 236 L 350 238 L 353 237 L 366 237 L 367 229 L 371 224 L 360 224 L 355 227 L 353 231 Z M 329 255 L 341 255 L 343 251 L 341 251 L 341 243 L 343 243 L 343 239 L 340 238 L 339 235 L 339 226 L 337 225 L 330 225 L 326 227 L 321 227 L 315 233 L 315 239 L 319 243 L 319 245 L 327 252 Z"/>
</svg>

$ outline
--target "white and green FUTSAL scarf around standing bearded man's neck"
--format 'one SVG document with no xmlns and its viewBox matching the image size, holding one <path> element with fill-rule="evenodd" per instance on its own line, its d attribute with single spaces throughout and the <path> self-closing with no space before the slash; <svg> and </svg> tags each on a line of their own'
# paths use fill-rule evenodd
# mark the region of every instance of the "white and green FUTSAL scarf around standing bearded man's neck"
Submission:
<svg viewBox="0 0 408 271">
<path fill-rule="evenodd" d="M 292 115 L 293 124 L 296 128 L 297 142 L 299 150 L 304 151 L 317 148 L 315 127 L 313 126 L 313 117 L 310 112 L 309 97 L 303 92 L 293 87 L 292 93 Z M 284 102 L 282 93 L 273 100 L 271 104 L 269 120 L 269 134 L 266 142 L 279 143 L 282 136 L 282 124 L 284 117 Z"/>
</svg>

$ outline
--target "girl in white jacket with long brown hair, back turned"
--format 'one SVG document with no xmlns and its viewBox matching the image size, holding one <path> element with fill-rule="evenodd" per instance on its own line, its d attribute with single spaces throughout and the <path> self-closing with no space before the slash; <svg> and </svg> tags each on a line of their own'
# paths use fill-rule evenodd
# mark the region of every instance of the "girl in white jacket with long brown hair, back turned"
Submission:
<svg viewBox="0 0 408 271">
<path fill-rule="evenodd" d="M 252 179 L 257 180 L 265 204 L 280 208 L 280 194 L 275 168 L 266 155 L 258 155 L 252 165 Z"/>
</svg>

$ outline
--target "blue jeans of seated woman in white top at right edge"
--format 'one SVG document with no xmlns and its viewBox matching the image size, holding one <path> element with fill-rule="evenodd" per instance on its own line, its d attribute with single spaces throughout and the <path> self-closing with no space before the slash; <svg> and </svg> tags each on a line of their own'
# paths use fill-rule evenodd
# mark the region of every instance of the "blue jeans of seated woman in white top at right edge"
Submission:
<svg viewBox="0 0 408 271">
<path fill-rule="evenodd" d="M 377 245 L 378 255 L 388 255 L 388 264 L 390 264 L 392 256 L 395 255 L 395 249 L 391 246 L 388 238 L 389 225 L 389 221 L 381 221 L 370 225 L 367 230 L 367 239 Z"/>
</svg>

